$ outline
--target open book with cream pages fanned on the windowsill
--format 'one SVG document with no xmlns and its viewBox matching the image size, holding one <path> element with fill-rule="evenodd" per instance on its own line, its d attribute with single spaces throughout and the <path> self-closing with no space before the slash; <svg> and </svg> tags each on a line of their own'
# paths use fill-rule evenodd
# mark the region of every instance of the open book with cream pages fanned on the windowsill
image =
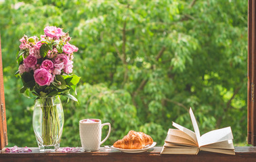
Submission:
<svg viewBox="0 0 256 162">
<path fill-rule="evenodd" d="M 169 129 L 161 154 L 192 154 L 201 151 L 234 155 L 233 135 L 230 127 L 212 130 L 200 136 L 194 113 L 190 108 L 194 132 L 175 124 L 177 129 Z"/>
</svg>

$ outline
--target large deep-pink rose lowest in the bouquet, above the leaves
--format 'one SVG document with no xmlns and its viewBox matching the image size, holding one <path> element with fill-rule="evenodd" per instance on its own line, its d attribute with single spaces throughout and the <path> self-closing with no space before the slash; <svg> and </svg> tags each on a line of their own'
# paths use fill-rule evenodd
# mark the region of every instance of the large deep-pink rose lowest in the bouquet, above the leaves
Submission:
<svg viewBox="0 0 256 162">
<path fill-rule="evenodd" d="M 34 78 L 35 82 L 37 82 L 39 86 L 49 86 L 51 82 L 54 81 L 54 76 L 52 76 L 47 70 L 43 68 L 35 70 Z"/>
</svg>

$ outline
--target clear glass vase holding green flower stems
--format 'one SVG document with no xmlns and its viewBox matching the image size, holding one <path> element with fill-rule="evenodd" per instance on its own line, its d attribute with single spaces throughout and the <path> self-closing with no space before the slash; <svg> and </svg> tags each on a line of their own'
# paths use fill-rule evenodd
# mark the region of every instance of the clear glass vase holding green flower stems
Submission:
<svg viewBox="0 0 256 162">
<path fill-rule="evenodd" d="M 40 151 L 60 148 L 64 113 L 60 97 L 41 97 L 35 101 L 33 129 Z"/>
</svg>

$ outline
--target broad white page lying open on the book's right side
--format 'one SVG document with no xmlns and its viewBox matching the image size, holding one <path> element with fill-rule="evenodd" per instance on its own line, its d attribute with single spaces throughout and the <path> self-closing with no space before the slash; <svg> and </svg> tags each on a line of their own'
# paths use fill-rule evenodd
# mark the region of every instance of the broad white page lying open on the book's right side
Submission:
<svg viewBox="0 0 256 162">
<path fill-rule="evenodd" d="M 199 146 L 205 146 L 207 144 L 213 144 L 232 139 L 233 135 L 230 127 L 222 128 L 219 130 L 212 130 L 211 132 L 207 132 L 200 137 Z"/>
</svg>

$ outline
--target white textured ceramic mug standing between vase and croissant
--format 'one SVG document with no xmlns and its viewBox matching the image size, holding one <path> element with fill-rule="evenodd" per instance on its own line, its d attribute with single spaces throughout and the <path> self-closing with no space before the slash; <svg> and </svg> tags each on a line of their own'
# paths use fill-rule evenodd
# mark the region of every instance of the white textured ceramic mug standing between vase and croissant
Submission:
<svg viewBox="0 0 256 162">
<path fill-rule="evenodd" d="M 108 126 L 108 135 L 102 140 L 102 127 Z M 79 121 L 79 133 L 85 151 L 98 151 L 110 135 L 110 123 L 102 124 L 100 119 L 82 119 Z M 102 141 L 101 141 L 102 140 Z"/>
</svg>

